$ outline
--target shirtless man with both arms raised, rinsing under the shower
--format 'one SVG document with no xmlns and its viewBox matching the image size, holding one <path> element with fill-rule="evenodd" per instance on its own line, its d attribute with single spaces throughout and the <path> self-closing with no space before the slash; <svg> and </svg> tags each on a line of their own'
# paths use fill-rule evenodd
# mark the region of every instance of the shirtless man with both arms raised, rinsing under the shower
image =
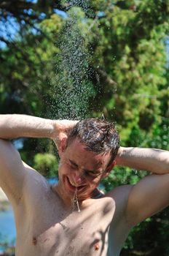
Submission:
<svg viewBox="0 0 169 256">
<path fill-rule="evenodd" d="M 55 141 L 58 184 L 22 162 L 9 142 L 19 137 Z M 15 213 L 16 256 L 117 256 L 131 227 L 169 205 L 169 152 L 119 147 L 105 121 L 0 115 L 0 138 L 0 186 Z M 97 187 L 114 159 L 152 175 L 103 195 Z"/>
</svg>

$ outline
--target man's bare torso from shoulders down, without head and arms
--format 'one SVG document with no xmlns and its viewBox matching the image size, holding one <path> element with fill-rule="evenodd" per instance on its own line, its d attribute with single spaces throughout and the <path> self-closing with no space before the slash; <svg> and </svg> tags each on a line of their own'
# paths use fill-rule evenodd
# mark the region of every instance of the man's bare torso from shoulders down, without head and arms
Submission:
<svg viewBox="0 0 169 256">
<path fill-rule="evenodd" d="M 25 198 L 15 208 L 16 256 L 119 255 L 129 228 L 123 199 L 110 196 L 86 200 L 78 212 L 63 205 L 43 178 L 25 187 Z M 117 196 L 118 197 L 118 196 Z M 118 199 L 118 198 L 117 198 Z"/>
</svg>

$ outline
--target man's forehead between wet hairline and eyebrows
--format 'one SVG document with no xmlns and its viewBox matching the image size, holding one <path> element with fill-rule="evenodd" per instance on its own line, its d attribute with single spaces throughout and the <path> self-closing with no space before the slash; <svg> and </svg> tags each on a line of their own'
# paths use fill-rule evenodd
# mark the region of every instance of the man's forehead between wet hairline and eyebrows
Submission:
<svg viewBox="0 0 169 256">
<path fill-rule="evenodd" d="M 73 160 L 78 165 L 87 165 L 88 167 L 106 167 L 110 159 L 110 153 L 96 154 L 93 151 L 85 149 L 85 145 L 80 143 L 76 138 L 73 140 L 65 151 L 66 157 Z"/>
</svg>

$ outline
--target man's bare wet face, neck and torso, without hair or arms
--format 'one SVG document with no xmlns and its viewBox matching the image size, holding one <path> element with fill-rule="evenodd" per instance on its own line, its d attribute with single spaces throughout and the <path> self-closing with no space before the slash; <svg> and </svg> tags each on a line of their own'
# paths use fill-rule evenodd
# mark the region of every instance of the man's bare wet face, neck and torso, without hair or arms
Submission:
<svg viewBox="0 0 169 256">
<path fill-rule="evenodd" d="M 54 187 L 25 165 L 23 199 L 15 207 L 16 256 L 119 255 L 130 229 L 124 214 L 130 189 L 119 187 L 100 198 L 93 193 L 109 173 L 108 162 L 109 154 L 86 151 L 76 140 L 60 155 Z M 72 211 L 73 184 L 78 186 L 80 213 Z"/>
</svg>

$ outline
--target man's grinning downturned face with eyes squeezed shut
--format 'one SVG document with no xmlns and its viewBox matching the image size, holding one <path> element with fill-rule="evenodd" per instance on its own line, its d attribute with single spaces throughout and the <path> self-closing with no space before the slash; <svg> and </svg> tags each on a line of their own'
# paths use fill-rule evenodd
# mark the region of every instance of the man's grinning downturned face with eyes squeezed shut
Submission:
<svg viewBox="0 0 169 256">
<path fill-rule="evenodd" d="M 77 192 L 79 200 L 90 198 L 101 178 L 106 176 L 110 154 L 87 151 L 78 139 L 60 154 L 58 189 L 67 197 Z"/>
</svg>

